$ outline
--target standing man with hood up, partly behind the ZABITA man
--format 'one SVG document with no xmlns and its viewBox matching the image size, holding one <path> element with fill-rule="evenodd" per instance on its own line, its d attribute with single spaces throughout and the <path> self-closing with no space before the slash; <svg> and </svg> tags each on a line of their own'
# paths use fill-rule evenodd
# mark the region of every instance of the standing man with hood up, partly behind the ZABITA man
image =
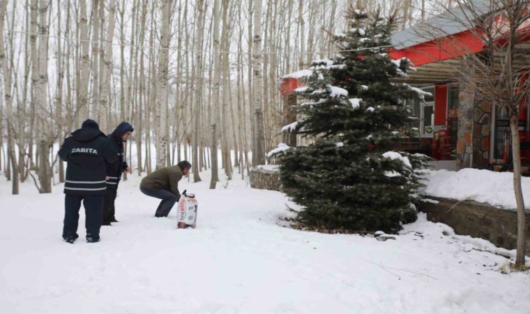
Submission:
<svg viewBox="0 0 530 314">
<path fill-rule="evenodd" d="M 121 179 L 122 172 L 130 172 L 130 167 L 123 156 L 123 142 L 126 142 L 132 131 L 135 130 L 127 122 L 121 122 L 116 130 L 109 135 L 109 140 L 112 148 L 118 153 L 118 159 L 114 163 L 107 165 L 107 194 L 105 194 L 105 204 L 103 205 L 103 225 L 111 225 L 110 223 L 117 223 L 114 201 L 116 200 L 116 193 L 118 191 L 118 184 Z"/>
</svg>

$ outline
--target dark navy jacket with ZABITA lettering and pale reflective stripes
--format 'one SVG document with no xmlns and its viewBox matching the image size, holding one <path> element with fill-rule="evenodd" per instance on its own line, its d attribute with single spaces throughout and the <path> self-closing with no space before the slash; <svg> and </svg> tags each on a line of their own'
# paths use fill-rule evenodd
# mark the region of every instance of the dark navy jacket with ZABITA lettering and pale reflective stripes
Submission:
<svg viewBox="0 0 530 314">
<path fill-rule="evenodd" d="M 97 124 L 96 124 L 97 126 Z M 64 140 L 59 157 L 68 163 L 64 193 L 105 195 L 106 165 L 118 158 L 111 143 L 98 128 L 79 128 Z"/>
</svg>

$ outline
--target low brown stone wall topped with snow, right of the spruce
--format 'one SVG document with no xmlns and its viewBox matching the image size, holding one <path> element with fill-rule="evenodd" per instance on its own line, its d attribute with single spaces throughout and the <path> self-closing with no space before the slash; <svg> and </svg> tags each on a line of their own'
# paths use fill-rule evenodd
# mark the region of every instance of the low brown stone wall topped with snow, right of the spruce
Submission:
<svg viewBox="0 0 530 314">
<path fill-rule="evenodd" d="M 445 223 L 457 234 L 486 239 L 496 246 L 513 250 L 517 247 L 517 212 L 499 209 L 473 201 L 460 202 L 430 197 L 438 204 L 423 202 L 420 211 L 435 223 Z M 454 205 L 454 207 L 453 207 Z M 450 209 L 453 207 L 453 209 Z M 449 210 L 450 209 L 450 210 Z M 530 211 L 527 210 L 527 252 L 530 252 Z"/>
</svg>

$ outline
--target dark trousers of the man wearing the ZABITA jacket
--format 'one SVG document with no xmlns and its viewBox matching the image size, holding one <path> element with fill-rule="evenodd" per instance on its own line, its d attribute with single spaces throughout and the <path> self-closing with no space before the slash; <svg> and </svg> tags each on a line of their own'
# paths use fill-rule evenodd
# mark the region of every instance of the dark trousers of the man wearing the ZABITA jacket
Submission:
<svg viewBox="0 0 530 314">
<path fill-rule="evenodd" d="M 101 228 L 101 214 L 103 211 L 103 195 L 83 196 L 66 194 L 64 197 L 64 226 L 63 239 L 70 236 L 77 238 L 77 225 L 79 223 L 79 209 L 83 201 L 85 213 L 86 235 L 99 239 Z"/>
</svg>

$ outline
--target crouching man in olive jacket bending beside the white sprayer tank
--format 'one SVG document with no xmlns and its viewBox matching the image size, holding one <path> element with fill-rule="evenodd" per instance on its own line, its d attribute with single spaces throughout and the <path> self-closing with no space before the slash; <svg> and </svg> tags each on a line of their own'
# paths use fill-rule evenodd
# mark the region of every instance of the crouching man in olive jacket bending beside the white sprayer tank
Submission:
<svg viewBox="0 0 530 314">
<path fill-rule="evenodd" d="M 182 160 L 177 165 L 160 168 L 142 179 L 142 193 L 162 200 L 156 209 L 156 217 L 167 217 L 173 205 L 179 202 L 179 180 L 188 174 L 190 168 L 191 164 Z"/>
</svg>

